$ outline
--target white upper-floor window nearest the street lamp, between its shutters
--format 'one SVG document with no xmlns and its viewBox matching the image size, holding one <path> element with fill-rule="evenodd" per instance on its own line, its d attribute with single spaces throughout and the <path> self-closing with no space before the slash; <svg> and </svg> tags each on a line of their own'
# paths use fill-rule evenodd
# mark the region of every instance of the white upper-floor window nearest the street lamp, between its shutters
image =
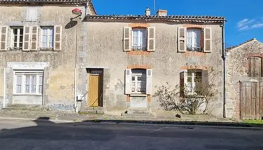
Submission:
<svg viewBox="0 0 263 150">
<path fill-rule="evenodd" d="M 42 26 L 42 48 L 53 48 L 54 47 L 54 26 Z"/>
</svg>

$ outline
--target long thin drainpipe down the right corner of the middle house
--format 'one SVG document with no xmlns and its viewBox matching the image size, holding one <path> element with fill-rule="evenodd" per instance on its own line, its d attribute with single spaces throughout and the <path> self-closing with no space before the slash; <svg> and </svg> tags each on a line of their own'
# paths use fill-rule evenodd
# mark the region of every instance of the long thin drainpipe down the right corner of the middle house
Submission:
<svg viewBox="0 0 263 150">
<path fill-rule="evenodd" d="M 221 24 L 222 27 L 222 59 L 223 59 L 223 117 L 226 118 L 226 95 L 225 95 L 225 80 L 226 80 L 226 68 L 225 68 L 225 46 L 224 46 L 224 22 Z"/>
</svg>

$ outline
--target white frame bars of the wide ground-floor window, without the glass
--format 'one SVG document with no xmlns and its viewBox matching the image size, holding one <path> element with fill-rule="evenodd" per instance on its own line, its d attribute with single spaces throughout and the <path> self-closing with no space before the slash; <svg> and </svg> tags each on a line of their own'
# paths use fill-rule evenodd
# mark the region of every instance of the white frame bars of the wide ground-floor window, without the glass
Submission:
<svg viewBox="0 0 263 150">
<path fill-rule="evenodd" d="M 17 92 L 17 75 L 22 75 L 22 87 L 21 92 Z M 26 75 L 36 75 L 36 92 L 26 92 Z M 42 93 L 40 92 L 40 76 L 42 76 Z M 25 70 L 17 70 L 14 73 L 14 92 L 16 95 L 43 95 L 43 79 L 44 74 L 43 71 L 25 71 Z"/>
</svg>

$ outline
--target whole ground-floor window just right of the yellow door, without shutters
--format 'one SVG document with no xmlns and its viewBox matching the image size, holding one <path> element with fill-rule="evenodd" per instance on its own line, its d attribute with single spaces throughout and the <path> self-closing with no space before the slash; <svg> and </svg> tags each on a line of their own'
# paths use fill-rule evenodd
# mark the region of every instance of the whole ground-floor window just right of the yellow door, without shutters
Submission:
<svg viewBox="0 0 263 150">
<path fill-rule="evenodd" d="M 146 69 L 131 71 L 131 93 L 146 93 Z"/>
</svg>

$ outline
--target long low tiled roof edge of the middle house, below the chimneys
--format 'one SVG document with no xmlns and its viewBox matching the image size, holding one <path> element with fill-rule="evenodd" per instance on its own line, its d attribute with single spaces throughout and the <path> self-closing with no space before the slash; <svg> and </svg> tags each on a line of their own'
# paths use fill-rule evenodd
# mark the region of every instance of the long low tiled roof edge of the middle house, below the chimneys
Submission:
<svg viewBox="0 0 263 150">
<path fill-rule="evenodd" d="M 169 21 L 169 22 L 201 22 L 201 23 L 224 23 L 226 20 L 223 16 L 207 15 L 86 15 L 86 21 L 126 21 L 126 20 L 143 20 L 143 21 Z"/>
</svg>

